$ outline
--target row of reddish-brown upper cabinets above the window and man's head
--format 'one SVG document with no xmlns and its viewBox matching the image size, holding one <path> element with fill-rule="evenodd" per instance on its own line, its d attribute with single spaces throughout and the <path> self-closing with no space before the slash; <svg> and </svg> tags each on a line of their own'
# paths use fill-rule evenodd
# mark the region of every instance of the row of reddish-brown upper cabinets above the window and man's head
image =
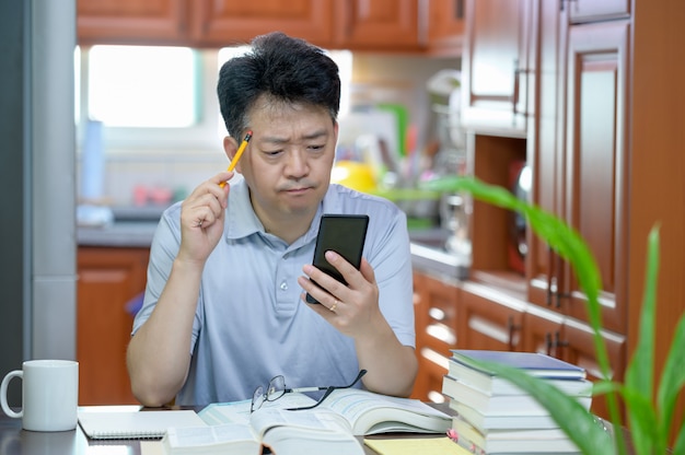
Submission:
<svg viewBox="0 0 685 455">
<path fill-rule="evenodd" d="M 80 45 L 224 47 L 281 31 L 326 48 L 461 54 L 464 0 L 78 0 Z"/>
</svg>

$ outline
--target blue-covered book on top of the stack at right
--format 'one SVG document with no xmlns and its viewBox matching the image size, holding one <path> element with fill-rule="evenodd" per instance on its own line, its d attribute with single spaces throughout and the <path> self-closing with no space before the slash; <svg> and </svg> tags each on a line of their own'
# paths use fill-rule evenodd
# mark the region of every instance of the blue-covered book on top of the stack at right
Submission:
<svg viewBox="0 0 685 455">
<path fill-rule="evenodd" d="M 583 368 L 539 352 L 453 349 L 452 360 L 490 376 L 492 376 L 491 372 L 477 366 L 475 363 L 500 363 L 525 370 L 531 375 L 538 377 L 562 377 L 569 380 L 585 377 L 585 370 Z"/>
</svg>

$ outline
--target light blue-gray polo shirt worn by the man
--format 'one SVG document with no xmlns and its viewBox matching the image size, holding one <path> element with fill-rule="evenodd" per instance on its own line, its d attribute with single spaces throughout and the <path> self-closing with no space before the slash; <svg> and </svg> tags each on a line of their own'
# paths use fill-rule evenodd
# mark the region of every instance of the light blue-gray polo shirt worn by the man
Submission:
<svg viewBox="0 0 685 455">
<path fill-rule="evenodd" d="M 387 200 L 330 185 L 310 230 L 291 245 L 266 233 L 244 180 L 231 184 L 224 236 L 202 273 L 186 384 L 176 402 L 252 398 L 278 374 L 288 387 L 345 385 L 359 371 L 353 340 L 300 300 L 323 213 L 368 214 L 363 256 L 374 269 L 380 305 L 399 342 L 415 347 L 411 260 L 406 217 Z M 181 244 L 181 203 L 169 208 L 150 249 L 143 306 L 148 319 Z M 181 354 L 181 353 L 179 353 Z"/>
</svg>

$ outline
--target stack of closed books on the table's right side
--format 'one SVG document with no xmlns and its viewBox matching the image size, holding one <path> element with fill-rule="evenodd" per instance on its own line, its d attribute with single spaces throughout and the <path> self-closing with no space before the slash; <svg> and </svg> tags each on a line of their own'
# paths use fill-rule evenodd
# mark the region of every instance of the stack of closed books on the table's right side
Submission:
<svg viewBox="0 0 685 455">
<path fill-rule="evenodd" d="M 576 454 L 578 447 L 549 412 L 531 395 L 474 361 L 503 363 L 546 380 L 585 408 L 592 402 L 592 383 L 585 371 L 536 352 L 452 350 L 442 393 L 457 412 L 451 434 L 478 455 Z"/>
</svg>

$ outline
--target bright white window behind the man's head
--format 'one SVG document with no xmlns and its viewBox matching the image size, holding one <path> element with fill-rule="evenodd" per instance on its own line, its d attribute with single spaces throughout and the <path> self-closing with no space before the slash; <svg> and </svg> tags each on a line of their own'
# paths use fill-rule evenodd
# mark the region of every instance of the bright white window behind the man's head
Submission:
<svg viewBox="0 0 685 455">
<path fill-rule="evenodd" d="M 76 52 L 79 137 L 104 124 L 107 153 L 221 150 L 225 127 L 217 101 L 221 65 L 244 47 L 93 46 Z M 340 114 L 349 105 L 351 52 L 330 51 L 340 68 Z"/>
</svg>

